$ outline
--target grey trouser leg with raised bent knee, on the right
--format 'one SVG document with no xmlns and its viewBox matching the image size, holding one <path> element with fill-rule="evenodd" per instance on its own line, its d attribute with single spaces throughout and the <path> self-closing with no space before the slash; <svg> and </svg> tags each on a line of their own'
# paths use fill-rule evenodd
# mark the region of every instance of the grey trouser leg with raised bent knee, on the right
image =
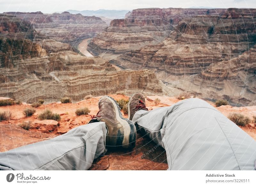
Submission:
<svg viewBox="0 0 256 186">
<path fill-rule="evenodd" d="M 256 141 L 201 99 L 141 110 L 133 121 L 165 148 L 169 170 L 255 170 Z"/>
</svg>

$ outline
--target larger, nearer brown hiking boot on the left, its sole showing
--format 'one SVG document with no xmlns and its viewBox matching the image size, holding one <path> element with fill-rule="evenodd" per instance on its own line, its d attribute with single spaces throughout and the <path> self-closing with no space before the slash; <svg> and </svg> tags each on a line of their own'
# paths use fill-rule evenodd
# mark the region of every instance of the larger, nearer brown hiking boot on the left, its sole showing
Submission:
<svg viewBox="0 0 256 186">
<path fill-rule="evenodd" d="M 99 112 L 90 122 L 102 121 L 108 130 L 107 147 L 134 148 L 136 143 L 136 128 L 131 120 L 123 118 L 118 103 L 109 96 L 99 100 Z"/>
</svg>

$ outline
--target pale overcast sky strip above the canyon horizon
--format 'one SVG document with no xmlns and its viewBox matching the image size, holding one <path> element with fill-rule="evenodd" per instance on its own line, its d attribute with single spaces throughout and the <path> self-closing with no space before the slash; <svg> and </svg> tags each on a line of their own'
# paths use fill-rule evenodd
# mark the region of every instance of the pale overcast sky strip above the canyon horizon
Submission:
<svg viewBox="0 0 256 186">
<path fill-rule="evenodd" d="M 256 0 L 0 0 L 0 12 L 133 10 L 137 8 L 256 8 Z"/>
</svg>

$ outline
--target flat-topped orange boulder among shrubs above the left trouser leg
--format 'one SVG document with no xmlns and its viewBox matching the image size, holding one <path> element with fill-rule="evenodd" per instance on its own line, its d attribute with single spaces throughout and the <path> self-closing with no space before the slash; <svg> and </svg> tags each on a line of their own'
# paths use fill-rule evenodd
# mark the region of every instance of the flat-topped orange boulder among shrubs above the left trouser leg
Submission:
<svg viewBox="0 0 256 186">
<path fill-rule="evenodd" d="M 40 129 L 41 132 L 50 133 L 59 126 L 55 120 L 35 120 L 30 124 L 31 129 Z"/>
</svg>

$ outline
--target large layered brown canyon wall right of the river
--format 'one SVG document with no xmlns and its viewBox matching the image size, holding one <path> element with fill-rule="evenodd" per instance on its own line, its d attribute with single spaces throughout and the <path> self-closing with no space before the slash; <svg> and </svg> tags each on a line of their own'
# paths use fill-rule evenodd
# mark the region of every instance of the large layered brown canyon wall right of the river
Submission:
<svg viewBox="0 0 256 186">
<path fill-rule="evenodd" d="M 253 105 L 255 20 L 255 9 L 137 9 L 112 20 L 88 50 L 122 68 L 154 70 L 169 95 Z"/>
</svg>

